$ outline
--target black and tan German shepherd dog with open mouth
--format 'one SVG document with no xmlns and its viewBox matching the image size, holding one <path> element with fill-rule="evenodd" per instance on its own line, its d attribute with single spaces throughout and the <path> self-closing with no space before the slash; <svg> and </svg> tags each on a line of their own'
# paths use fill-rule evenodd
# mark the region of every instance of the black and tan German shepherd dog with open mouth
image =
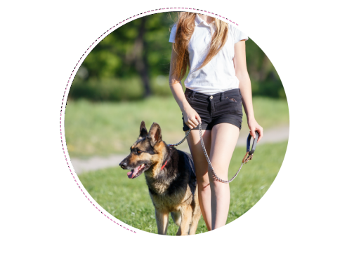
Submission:
<svg viewBox="0 0 354 255">
<path fill-rule="evenodd" d="M 152 123 L 147 132 L 140 124 L 138 140 L 131 153 L 119 164 L 129 179 L 145 173 L 146 184 L 155 207 L 158 235 L 166 236 L 169 213 L 177 226 L 176 236 L 195 236 L 201 210 L 192 156 L 162 141 L 161 128 Z"/>
</svg>

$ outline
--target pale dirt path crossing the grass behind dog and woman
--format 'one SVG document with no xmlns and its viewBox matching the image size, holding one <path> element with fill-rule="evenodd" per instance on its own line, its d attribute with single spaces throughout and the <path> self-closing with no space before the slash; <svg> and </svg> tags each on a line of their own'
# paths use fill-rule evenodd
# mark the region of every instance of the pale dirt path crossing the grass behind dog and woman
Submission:
<svg viewBox="0 0 354 255">
<path fill-rule="evenodd" d="M 290 139 L 290 125 L 287 126 L 280 126 L 280 127 L 274 127 L 269 130 L 264 130 L 263 138 L 261 142 L 257 144 L 266 144 L 269 142 L 282 142 L 284 140 L 289 140 Z M 237 142 L 237 146 L 244 146 L 246 147 L 246 141 L 247 141 L 247 136 L 249 130 L 248 129 L 242 129 L 240 132 L 240 137 Z M 183 137 L 181 137 L 182 139 Z M 180 146 L 177 147 L 177 149 L 180 149 L 181 151 L 185 151 L 190 153 L 190 150 L 188 148 L 188 143 L 183 142 Z M 94 171 L 94 170 L 100 170 L 106 167 L 115 167 L 118 166 L 119 163 L 126 157 L 127 155 L 112 155 L 107 158 L 100 158 L 100 157 L 93 157 L 90 158 L 89 160 L 81 160 L 79 158 L 70 158 L 72 162 L 72 166 L 74 167 L 75 172 L 77 174 L 81 174 L 81 172 L 89 172 L 89 171 Z"/>
</svg>

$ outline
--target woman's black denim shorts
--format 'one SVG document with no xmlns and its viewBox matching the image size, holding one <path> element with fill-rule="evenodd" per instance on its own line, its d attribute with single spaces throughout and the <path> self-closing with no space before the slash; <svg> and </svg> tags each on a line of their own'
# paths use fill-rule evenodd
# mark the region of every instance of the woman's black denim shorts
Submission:
<svg viewBox="0 0 354 255">
<path fill-rule="evenodd" d="M 230 123 L 240 128 L 242 123 L 242 96 L 239 88 L 206 95 L 190 89 L 185 90 L 185 98 L 202 118 L 202 130 L 211 130 L 214 125 Z M 183 119 L 183 131 L 188 131 Z M 193 128 L 199 130 L 199 126 Z"/>
</svg>

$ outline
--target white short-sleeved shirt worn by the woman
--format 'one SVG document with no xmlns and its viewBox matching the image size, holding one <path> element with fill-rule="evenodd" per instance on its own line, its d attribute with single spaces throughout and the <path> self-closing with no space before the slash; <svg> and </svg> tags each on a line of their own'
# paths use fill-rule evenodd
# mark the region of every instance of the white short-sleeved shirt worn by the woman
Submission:
<svg viewBox="0 0 354 255">
<path fill-rule="evenodd" d="M 240 29 L 228 24 L 228 39 L 223 48 L 202 69 L 194 71 L 201 66 L 209 52 L 211 36 L 215 31 L 215 24 L 207 24 L 195 15 L 195 30 L 188 44 L 190 58 L 190 72 L 185 79 L 185 88 L 214 95 L 226 90 L 239 88 L 240 81 L 235 75 L 233 58 L 235 55 L 234 44 L 241 40 L 248 40 L 247 34 Z M 170 34 L 170 43 L 174 43 L 176 25 L 173 25 Z"/>
</svg>

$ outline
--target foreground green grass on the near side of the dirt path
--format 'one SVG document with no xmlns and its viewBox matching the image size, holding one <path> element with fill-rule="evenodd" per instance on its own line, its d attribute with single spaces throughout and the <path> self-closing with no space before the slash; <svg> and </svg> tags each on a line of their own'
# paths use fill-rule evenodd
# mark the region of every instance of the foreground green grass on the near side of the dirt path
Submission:
<svg viewBox="0 0 354 255">
<path fill-rule="evenodd" d="M 289 141 L 257 146 L 254 158 L 242 167 L 230 183 L 230 210 L 226 226 L 247 214 L 270 191 L 282 170 Z M 229 169 L 229 179 L 237 172 L 244 148 L 236 148 Z M 107 168 L 79 175 L 86 191 L 100 207 L 118 221 L 136 230 L 157 235 L 155 209 L 148 194 L 145 177 L 129 179 L 120 167 Z M 176 236 L 178 227 L 169 216 L 167 236 Z M 201 216 L 196 235 L 208 233 Z"/>
</svg>

